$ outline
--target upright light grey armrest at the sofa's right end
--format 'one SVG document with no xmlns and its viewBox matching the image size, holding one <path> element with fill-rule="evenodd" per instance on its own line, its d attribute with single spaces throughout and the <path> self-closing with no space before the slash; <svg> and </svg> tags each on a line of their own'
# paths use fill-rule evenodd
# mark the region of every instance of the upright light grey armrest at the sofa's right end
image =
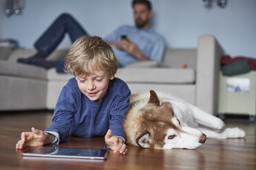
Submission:
<svg viewBox="0 0 256 170">
<path fill-rule="evenodd" d="M 217 114 L 220 57 L 224 50 L 212 35 L 198 38 L 196 105 L 210 114 Z"/>
</svg>

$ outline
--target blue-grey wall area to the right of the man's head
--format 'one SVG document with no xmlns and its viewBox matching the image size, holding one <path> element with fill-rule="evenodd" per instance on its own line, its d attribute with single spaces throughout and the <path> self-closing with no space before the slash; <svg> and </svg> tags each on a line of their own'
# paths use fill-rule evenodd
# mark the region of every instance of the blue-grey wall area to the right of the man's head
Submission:
<svg viewBox="0 0 256 170">
<path fill-rule="evenodd" d="M 156 29 L 171 47 L 195 47 L 201 34 L 213 34 L 226 53 L 256 58 L 256 1 L 228 0 L 226 8 L 204 8 L 202 0 L 155 0 Z"/>
</svg>

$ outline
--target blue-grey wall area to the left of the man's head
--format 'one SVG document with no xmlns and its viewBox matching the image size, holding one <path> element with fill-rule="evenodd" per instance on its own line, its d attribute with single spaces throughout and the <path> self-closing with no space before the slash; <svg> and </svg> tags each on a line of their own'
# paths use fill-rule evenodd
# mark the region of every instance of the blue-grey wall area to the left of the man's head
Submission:
<svg viewBox="0 0 256 170">
<path fill-rule="evenodd" d="M 23 14 L 8 19 L 7 35 L 17 38 L 21 46 L 32 48 L 35 40 L 63 12 L 72 14 L 91 35 L 104 37 L 122 24 L 133 24 L 130 0 L 25 0 Z M 59 47 L 70 45 L 66 36 Z"/>
</svg>

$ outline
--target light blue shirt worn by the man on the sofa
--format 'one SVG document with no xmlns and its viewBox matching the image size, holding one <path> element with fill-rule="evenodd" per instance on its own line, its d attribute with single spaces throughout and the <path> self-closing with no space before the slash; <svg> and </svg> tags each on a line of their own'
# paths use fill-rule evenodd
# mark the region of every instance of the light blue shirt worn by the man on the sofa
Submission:
<svg viewBox="0 0 256 170">
<path fill-rule="evenodd" d="M 153 29 L 139 29 L 138 27 L 124 25 L 118 27 L 118 29 L 105 37 L 104 40 L 108 42 L 116 42 L 121 40 L 122 35 L 131 39 L 147 58 L 162 62 L 165 40 L 160 34 L 154 32 Z M 120 66 L 127 66 L 134 62 L 138 62 L 137 58 L 131 56 L 126 51 L 122 51 L 113 46 L 111 47 L 120 61 Z"/>
</svg>

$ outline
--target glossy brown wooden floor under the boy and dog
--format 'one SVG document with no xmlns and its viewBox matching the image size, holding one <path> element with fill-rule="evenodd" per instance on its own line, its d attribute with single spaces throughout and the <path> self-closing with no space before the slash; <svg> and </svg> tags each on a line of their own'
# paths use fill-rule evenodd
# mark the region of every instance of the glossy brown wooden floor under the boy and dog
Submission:
<svg viewBox="0 0 256 170">
<path fill-rule="evenodd" d="M 246 138 L 207 139 L 198 149 L 153 150 L 129 146 L 127 155 L 108 151 L 107 160 L 63 160 L 21 156 L 15 149 L 21 132 L 34 126 L 44 130 L 52 112 L 0 112 L 0 169 L 256 169 L 255 122 L 226 120 L 239 126 Z M 104 147 L 103 138 L 70 138 L 60 147 Z"/>
</svg>

